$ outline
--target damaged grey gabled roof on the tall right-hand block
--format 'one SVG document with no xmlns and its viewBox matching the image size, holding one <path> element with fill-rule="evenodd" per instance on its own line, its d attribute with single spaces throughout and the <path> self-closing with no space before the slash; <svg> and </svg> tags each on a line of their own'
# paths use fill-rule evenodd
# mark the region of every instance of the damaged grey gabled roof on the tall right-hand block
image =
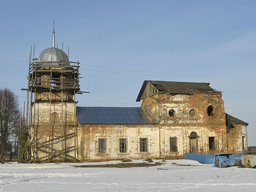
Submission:
<svg viewBox="0 0 256 192">
<path fill-rule="evenodd" d="M 150 82 L 159 92 L 169 93 L 191 93 L 191 92 L 220 92 L 209 86 L 210 83 L 194 83 L 194 82 L 176 82 L 176 81 L 151 81 L 145 80 L 140 89 L 136 101 L 140 101 L 145 88 Z"/>
</svg>

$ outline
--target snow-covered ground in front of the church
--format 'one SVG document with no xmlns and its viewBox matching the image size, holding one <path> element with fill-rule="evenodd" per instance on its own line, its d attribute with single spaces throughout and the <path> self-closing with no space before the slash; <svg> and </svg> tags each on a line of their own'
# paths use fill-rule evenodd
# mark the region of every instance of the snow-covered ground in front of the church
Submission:
<svg viewBox="0 0 256 192">
<path fill-rule="evenodd" d="M 129 168 L 73 166 L 118 164 L 121 161 L 81 164 L 0 164 L 0 191 L 256 191 L 256 169 L 213 168 L 213 164 L 200 164 L 192 160 L 153 161 L 151 164 L 164 164 Z M 133 160 L 130 163 L 145 161 Z"/>
</svg>

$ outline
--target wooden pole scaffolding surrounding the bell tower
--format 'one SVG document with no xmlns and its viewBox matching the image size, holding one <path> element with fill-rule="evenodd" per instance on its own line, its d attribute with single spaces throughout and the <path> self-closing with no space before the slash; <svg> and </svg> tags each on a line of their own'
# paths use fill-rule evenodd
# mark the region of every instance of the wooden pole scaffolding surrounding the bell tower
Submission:
<svg viewBox="0 0 256 192">
<path fill-rule="evenodd" d="M 62 50 L 63 52 L 63 50 Z M 34 49 L 35 53 L 35 49 Z M 62 53 L 63 54 L 63 53 Z M 63 58 L 63 56 L 62 56 Z M 35 163 L 35 162 L 51 162 L 51 161 L 68 161 L 79 162 L 78 148 L 77 148 L 77 128 L 76 128 L 76 94 L 82 94 L 79 86 L 79 61 L 47 61 L 38 62 L 38 58 L 32 59 L 31 52 L 28 70 L 28 88 L 27 93 L 27 111 L 26 118 L 23 118 L 23 124 L 20 123 L 19 129 L 19 160 L 20 163 Z M 48 77 L 44 76 L 48 74 Z M 58 74 L 54 76 L 53 74 Z M 69 78 L 67 78 L 67 76 Z M 36 106 L 36 93 L 46 91 L 49 93 L 49 135 L 44 142 L 39 142 L 40 138 L 37 137 L 36 126 L 39 122 L 35 119 L 35 106 Z M 51 92 L 61 93 L 61 136 L 54 137 L 51 134 Z M 74 132 L 66 133 L 63 131 L 63 91 L 71 92 L 74 95 Z M 34 100 L 34 101 L 33 101 Z M 47 101 L 48 102 L 48 101 Z M 34 105 L 34 108 L 33 108 Z M 25 105 L 24 105 L 25 108 Z M 24 125 L 25 121 L 25 125 Z M 21 122 L 21 121 L 20 121 Z M 25 129 L 24 129 L 25 127 Z M 31 132 L 30 129 L 33 129 Z M 72 138 L 74 145 L 66 147 L 65 140 Z M 53 142 L 59 140 L 62 148 L 56 149 L 53 147 Z M 74 155 L 68 154 L 68 151 L 73 150 Z M 37 156 L 38 152 L 44 154 L 40 157 Z"/>
</svg>

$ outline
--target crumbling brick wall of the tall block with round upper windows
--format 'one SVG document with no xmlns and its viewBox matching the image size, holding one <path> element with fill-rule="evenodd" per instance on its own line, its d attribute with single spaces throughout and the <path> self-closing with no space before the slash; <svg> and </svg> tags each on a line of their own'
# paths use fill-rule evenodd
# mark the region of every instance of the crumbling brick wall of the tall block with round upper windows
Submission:
<svg viewBox="0 0 256 192">
<path fill-rule="evenodd" d="M 210 105 L 213 107 L 213 116 L 208 116 L 207 113 Z M 196 139 L 198 153 L 209 151 L 209 136 L 215 137 L 215 150 L 227 150 L 226 117 L 221 93 L 157 93 L 145 98 L 141 107 L 149 107 L 159 121 L 161 157 L 190 152 L 191 132 L 196 132 L 199 136 Z M 175 116 L 169 116 L 170 109 L 175 111 Z M 194 117 L 189 115 L 191 109 L 196 110 Z M 177 152 L 170 151 L 171 132 L 177 135 Z"/>
</svg>

